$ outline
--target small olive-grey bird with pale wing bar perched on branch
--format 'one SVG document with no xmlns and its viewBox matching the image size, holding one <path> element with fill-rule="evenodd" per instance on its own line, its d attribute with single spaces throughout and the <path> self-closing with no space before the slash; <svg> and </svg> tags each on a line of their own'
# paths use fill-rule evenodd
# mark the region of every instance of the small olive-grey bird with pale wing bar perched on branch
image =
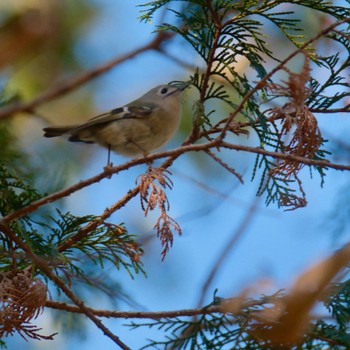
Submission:
<svg viewBox="0 0 350 350">
<path fill-rule="evenodd" d="M 126 156 L 147 155 L 163 146 L 180 123 L 181 93 L 186 83 L 157 86 L 124 107 L 71 126 L 44 128 L 45 137 L 68 136 L 72 142 L 98 143 Z"/>
</svg>

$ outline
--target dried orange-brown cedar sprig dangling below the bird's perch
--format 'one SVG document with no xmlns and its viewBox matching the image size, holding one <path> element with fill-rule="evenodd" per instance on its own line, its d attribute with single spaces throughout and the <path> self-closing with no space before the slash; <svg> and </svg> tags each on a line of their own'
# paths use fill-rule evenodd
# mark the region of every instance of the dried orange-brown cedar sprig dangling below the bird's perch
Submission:
<svg viewBox="0 0 350 350">
<path fill-rule="evenodd" d="M 181 235 L 181 227 L 167 213 L 169 210 L 169 201 L 164 189 L 171 189 L 173 186 L 169 175 L 171 175 L 169 170 L 149 167 L 145 174 L 137 178 L 137 181 L 139 181 L 141 207 L 145 216 L 150 210 L 154 210 L 157 207 L 160 210 L 160 216 L 154 228 L 157 231 L 157 236 L 160 237 L 163 247 L 163 259 L 174 241 L 172 230 L 177 231 Z M 156 184 L 156 181 L 160 186 Z"/>
</svg>

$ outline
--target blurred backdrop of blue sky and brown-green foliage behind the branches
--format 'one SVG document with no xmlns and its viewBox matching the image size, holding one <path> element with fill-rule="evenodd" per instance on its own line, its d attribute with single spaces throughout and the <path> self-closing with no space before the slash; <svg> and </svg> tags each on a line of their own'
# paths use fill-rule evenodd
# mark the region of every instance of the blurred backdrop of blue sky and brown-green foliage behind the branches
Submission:
<svg viewBox="0 0 350 350">
<path fill-rule="evenodd" d="M 2 0 L 0 2 L 0 84 L 13 100 L 31 100 L 60 81 L 102 65 L 108 60 L 136 49 L 154 37 L 161 16 L 151 23 L 138 17 L 144 1 L 110 0 Z M 346 6 L 345 1 L 334 3 Z M 288 9 L 289 5 L 286 5 Z M 327 19 L 316 12 L 300 9 L 308 36 L 326 25 Z M 292 49 L 283 35 L 266 24 L 270 49 L 284 58 Z M 329 48 L 321 47 L 320 50 Z M 42 128 L 56 124 L 75 124 L 139 97 L 148 89 L 173 80 L 188 80 L 189 66 L 202 62 L 181 38 L 174 38 L 159 51 L 146 51 L 117 65 L 78 89 L 45 103 L 36 115 L 11 118 L 11 130 L 36 170 L 36 185 L 41 192 L 52 192 L 86 179 L 106 164 L 107 152 L 96 145 L 72 144 L 59 139 L 44 139 Z M 187 63 L 181 64 L 181 62 Z M 299 65 L 300 67 L 300 65 Z M 249 69 L 242 60 L 236 69 Z M 298 65 L 296 63 L 296 69 Z M 321 74 L 321 70 L 320 70 Z M 197 95 L 184 96 L 183 120 L 176 137 L 165 147 L 181 144 L 188 135 Z M 217 115 L 228 110 L 216 106 Z M 332 160 L 349 164 L 350 123 L 345 115 L 320 115 L 318 122 Z M 0 122 L 2 123 L 2 121 Z M 239 144 L 256 145 L 252 134 L 237 136 Z M 243 174 L 240 184 L 218 164 L 201 154 L 186 154 L 170 168 L 173 190 L 168 190 L 169 214 L 182 227 L 174 246 L 161 261 L 161 246 L 153 231 L 157 212 L 144 217 L 139 199 L 132 200 L 109 221 L 125 223 L 130 233 L 139 235 L 144 246 L 147 277 L 132 280 L 125 271 L 106 270 L 122 287 L 120 299 L 91 292 L 84 295 L 88 306 L 97 309 L 162 311 L 197 307 L 212 301 L 214 290 L 220 297 L 231 297 L 250 287 L 254 295 L 288 288 L 294 278 L 312 263 L 327 256 L 349 240 L 349 174 L 327 172 L 323 188 L 317 174 L 303 170 L 302 181 L 308 205 L 285 212 L 264 198 L 257 198 L 259 181 L 251 181 L 255 156 L 243 152 L 222 152 L 225 161 Z M 114 164 L 127 160 L 112 156 Z M 157 164 L 157 163 L 156 163 Z M 74 215 L 99 215 L 135 185 L 136 177 L 146 170 L 138 166 L 83 189 L 60 202 Z M 55 204 L 56 205 L 56 204 Z M 230 241 L 235 243 L 227 259 L 216 270 L 209 288 L 203 292 L 208 274 Z M 127 295 L 128 297 L 126 297 Z M 55 295 L 54 295 L 55 296 Z M 59 332 L 54 341 L 25 342 L 21 337 L 8 339 L 9 349 L 115 349 L 114 344 L 84 317 L 62 315 L 45 310 L 34 323 L 42 333 Z M 127 320 L 103 320 L 132 349 L 157 338 L 156 330 L 130 330 Z"/>
</svg>

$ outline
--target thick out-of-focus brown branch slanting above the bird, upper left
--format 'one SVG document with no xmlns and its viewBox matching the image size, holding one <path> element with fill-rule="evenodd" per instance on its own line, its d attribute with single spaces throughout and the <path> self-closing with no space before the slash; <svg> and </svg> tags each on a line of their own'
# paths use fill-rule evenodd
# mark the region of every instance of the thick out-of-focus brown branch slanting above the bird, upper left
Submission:
<svg viewBox="0 0 350 350">
<path fill-rule="evenodd" d="M 8 117 L 14 113 L 18 112 L 29 112 L 32 113 L 35 108 L 42 105 L 43 103 L 49 102 L 57 97 L 60 97 L 71 90 L 85 84 L 86 82 L 98 77 L 99 75 L 108 72 L 110 69 L 114 68 L 115 66 L 139 55 L 142 52 L 148 51 L 148 50 L 159 50 L 161 47 L 161 44 L 169 40 L 174 33 L 166 33 L 166 32 L 159 32 L 157 36 L 151 40 L 148 44 L 141 46 L 127 54 L 124 54 L 120 57 L 114 58 L 96 68 L 93 68 L 89 71 L 86 71 L 74 78 L 70 78 L 64 82 L 58 83 L 53 88 L 43 92 L 38 97 L 34 98 L 33 100 L 29 102 L 24 102 L 20 104 L 12 104 L 8 105 L 6 107 L 3 107 L 0 109 L 0 119 Z"/>
</svg>

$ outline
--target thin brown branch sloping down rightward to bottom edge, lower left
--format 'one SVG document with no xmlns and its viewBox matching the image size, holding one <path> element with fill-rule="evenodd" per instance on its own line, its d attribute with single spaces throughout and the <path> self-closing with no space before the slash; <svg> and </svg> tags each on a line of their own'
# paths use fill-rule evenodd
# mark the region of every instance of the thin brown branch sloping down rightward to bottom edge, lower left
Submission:
<svg viewBox="0 0 350 350">
<path fill-rule="evenodd" d="M 8 226 L 0 222 L 0 230 L 14 243 L 21 248 L 26 256 L 32 261 L 32 263 L 39 268 L 45 276 L 47 276 L 51 281 L 53 281 L 66 295 L 72 300 L 74 304 L 77 305 L 77 308 L 81 313 L 85 314 L 107 337 L 113 340 L 116 344 L 119 345 L 121 349 L 129 350 L 130 348 L 125 345 L 118 336 L 113 334 L 94 314 L 87 308 L 82 300 L 80 300 L 66 284 L 57 277 L 47 264 L 47 262 L 34 254 L 29 245 L 27 245 L 15 232 L 13 232 Z"/>
</svg>

